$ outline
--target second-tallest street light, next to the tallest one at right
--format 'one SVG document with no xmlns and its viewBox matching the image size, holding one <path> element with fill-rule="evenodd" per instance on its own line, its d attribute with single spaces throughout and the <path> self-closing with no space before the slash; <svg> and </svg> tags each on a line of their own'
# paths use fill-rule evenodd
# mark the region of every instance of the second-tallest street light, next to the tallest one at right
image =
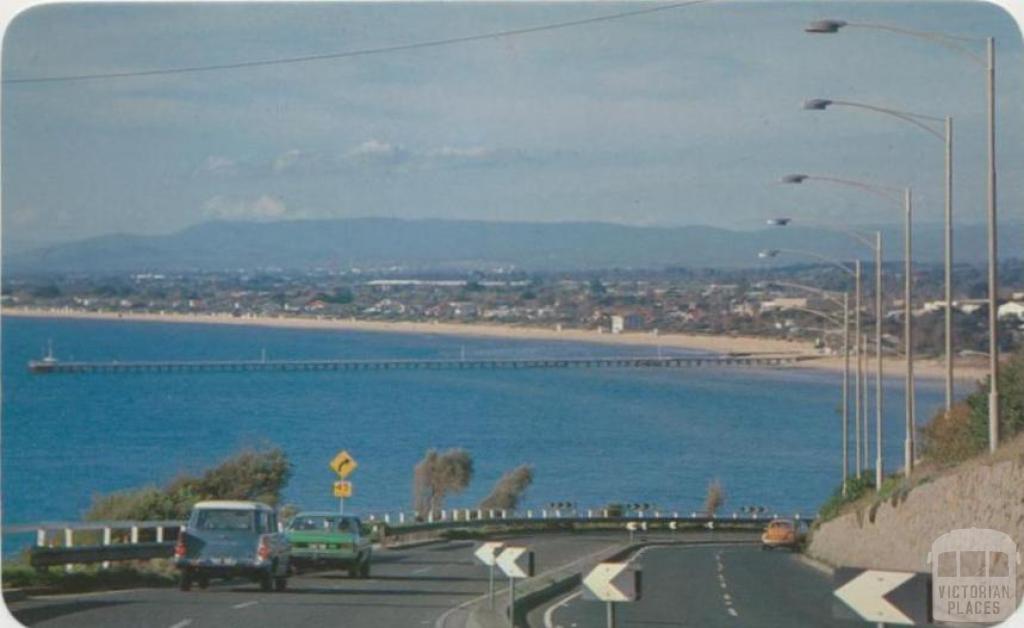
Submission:
<svg viewBox="0 0 1024 628">
<path fill-rule="evenodd" d="M 829 98 L 809 98 L 804 101 L 804 109 L 824 111 L 829 107 L 848 107 L 876 112 L 892 118 L 908 122 L 939 139 L 945 145 L 945 353 L 946 353 L 946 412 L 953 405 L 953 119 L 937 118 L 925 114 L 901 111 L 885 107 L 854 102 L 851 100 L 834 100 Z M 936 122 L 944 123 L 943 130 L 938 131 L 932 126 Z"/>
</svg>

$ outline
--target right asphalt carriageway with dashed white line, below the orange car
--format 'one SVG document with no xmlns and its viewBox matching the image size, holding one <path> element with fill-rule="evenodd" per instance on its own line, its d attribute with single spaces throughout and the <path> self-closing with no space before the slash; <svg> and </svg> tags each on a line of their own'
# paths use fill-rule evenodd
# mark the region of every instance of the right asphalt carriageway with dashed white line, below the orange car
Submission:
<svg viewBox="0 0 1024 628">
<path fill-rule="evenodd" d="M 643 570 L 640 601 L 616 605 L 629 626 L 834 626 L 830 577 L 784 550 L 757 545 L 650 546 L 635 555 Z M 594 628 L 606 625 L 605 604 L 580 591 L 530 614 L 531 626 Z"/>
</svg>

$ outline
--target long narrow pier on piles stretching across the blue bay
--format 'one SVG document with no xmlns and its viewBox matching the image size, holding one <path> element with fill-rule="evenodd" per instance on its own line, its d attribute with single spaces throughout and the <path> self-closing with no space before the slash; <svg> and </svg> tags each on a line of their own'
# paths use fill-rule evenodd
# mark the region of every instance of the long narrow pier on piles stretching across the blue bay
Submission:
<svg viewBox="0 0 1024 628">
<path fill-rule="evenodd" d="M 781 367 L 814 355 L 741 355 L 690 358 L 550 358 L 500 360 L 224 360 L 183 362 L 32 361 L 38 374 L 206 373 L 289 371 L 462 371 L 519 369 L 682 369 L 695 367 Z"/>
</svg>

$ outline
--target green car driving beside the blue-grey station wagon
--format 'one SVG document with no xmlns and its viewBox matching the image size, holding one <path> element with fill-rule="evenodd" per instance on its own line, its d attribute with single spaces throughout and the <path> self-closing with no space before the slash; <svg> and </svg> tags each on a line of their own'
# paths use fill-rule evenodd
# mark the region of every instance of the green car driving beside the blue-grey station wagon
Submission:
<svg viewBox="0 0 1024 628">
<path fill-rule="evenodd" d="M 351 578 L 370 577 L 370 540 L 358 517 L 334 512 L 300 512 L 285 531 L 296 573 L 314 569 L 347 570 Z"/>
</svg>

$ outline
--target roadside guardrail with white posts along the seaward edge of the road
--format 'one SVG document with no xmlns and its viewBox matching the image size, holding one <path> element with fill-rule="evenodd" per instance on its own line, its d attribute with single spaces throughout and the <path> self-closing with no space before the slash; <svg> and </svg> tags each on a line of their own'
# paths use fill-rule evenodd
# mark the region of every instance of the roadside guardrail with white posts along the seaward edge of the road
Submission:
<svg viewBox="0 0 1024 628">
<path fill-rule="evenodd" d="M 810 522 L 812 517 L 792 516 L 796 520 Z M 389 539 L 418 533 L 442 532 L 445 530 L 486 530 L 502 532 L 540 530 L 626 530 L 628 524 L 635 531 L 642 525 L 653 529 L 693 529 L 698 527 L 731 528 L 763 525 L 778 513 L 708 516 L 702 513 L 679 511 L 637 511 L 615 514 L 607 508 L 587 510 L 529 509 L 514 511 L 507 509 L 457 508 L 429 513 L 426 517 L 416 517 L 412 513 L 370 514 L 364 524 L 373 529 L 382 543 Z M 709 524 L 711 526 L 709 526 Z M 104 567 L 118 560 L 147 560 L 170 558 L 178 531 L 185 521 L 53 521 L 20 526 L 7 526 L 6 534 L 35 533 L 36 544 L 30 549 L 30 563 L 38 569 L 53 566 L 102 562 Z"/>
</svg>

